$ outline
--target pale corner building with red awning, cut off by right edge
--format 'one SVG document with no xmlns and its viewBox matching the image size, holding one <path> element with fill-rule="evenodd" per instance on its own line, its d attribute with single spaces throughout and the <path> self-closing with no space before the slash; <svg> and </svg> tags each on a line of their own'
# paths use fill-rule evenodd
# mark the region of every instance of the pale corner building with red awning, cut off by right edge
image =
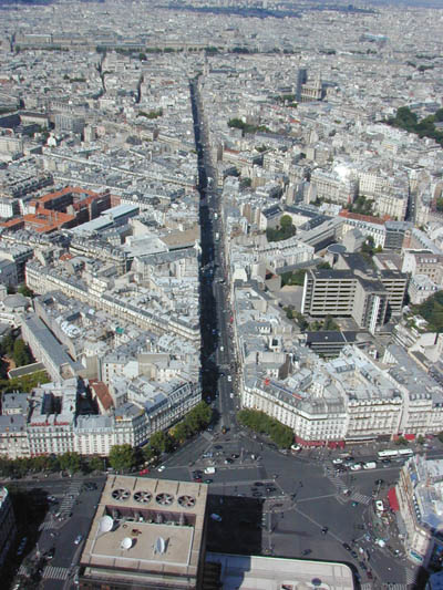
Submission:
<svg viewBox="0 0 443 590">
<path fill-rule="evenodd" d="M 423 455 L 411 457 L 390 491 L 404 531 L 408 558 L 424 568 L 441 568 L 443 561 L 443 460 Z"/>
</svg>

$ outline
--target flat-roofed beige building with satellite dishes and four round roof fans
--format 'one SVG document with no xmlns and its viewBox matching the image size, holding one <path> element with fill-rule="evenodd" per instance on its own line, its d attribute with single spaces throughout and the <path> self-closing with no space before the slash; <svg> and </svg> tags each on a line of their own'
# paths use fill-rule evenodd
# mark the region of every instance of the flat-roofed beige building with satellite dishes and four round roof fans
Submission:
<svg viewBox="0 0 443 590">
<path fill-rule="evenodd" d="M 202 588 L 207 490 L 109 476 L 80 559 L 80 588 Z"/>
</svg>

